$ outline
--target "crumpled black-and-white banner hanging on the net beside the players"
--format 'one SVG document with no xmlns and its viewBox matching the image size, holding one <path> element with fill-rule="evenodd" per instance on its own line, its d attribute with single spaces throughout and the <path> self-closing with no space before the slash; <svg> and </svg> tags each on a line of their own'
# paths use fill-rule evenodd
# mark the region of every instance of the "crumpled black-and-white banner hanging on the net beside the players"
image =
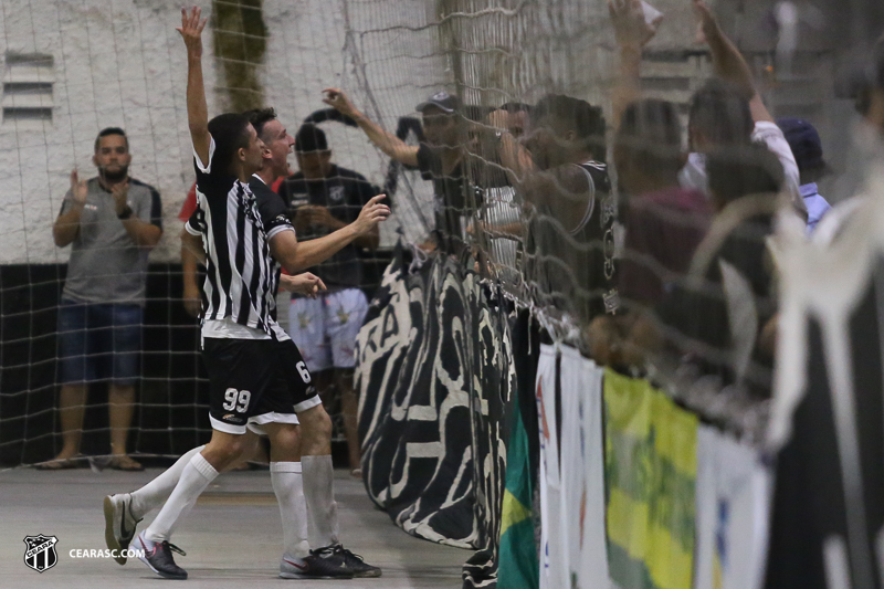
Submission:
<svg viewBox="0 0 884 589">
<path fill-rule="evenodd" d="M 409 271 L 397 255 L 356 356 L 369 496 L 411 535 L 480 549 L 466 582 L 492 583 L 515 386 L 505 311 L 454 260 Z"/>
</svg>

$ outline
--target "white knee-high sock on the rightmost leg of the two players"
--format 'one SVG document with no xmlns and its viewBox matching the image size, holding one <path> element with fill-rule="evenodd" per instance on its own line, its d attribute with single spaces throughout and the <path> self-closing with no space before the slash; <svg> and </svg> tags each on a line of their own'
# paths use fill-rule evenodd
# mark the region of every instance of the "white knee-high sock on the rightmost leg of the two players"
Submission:
<svg viewBox="0 0 884 589">
<path fill-rule="evenodd" d="M 304 498 L 311 548 L 338 544 L 338 504 L 335 503 L 335 471 L 332 456 L 302 456 Z"/>
</svg>

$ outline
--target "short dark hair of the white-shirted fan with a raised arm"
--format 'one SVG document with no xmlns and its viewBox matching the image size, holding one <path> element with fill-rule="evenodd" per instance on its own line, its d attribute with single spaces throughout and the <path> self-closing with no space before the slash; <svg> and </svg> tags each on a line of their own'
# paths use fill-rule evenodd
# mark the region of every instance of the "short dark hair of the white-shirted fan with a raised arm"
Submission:
<svg viewBox="0 0 884 589">
<path fill-rule="evenodd" d="M 739 86 L 709 80 L 691 97 L 687 125 L 716 145 L 747 145 L 755 128 L 749 97 Z"/>
</svg>

